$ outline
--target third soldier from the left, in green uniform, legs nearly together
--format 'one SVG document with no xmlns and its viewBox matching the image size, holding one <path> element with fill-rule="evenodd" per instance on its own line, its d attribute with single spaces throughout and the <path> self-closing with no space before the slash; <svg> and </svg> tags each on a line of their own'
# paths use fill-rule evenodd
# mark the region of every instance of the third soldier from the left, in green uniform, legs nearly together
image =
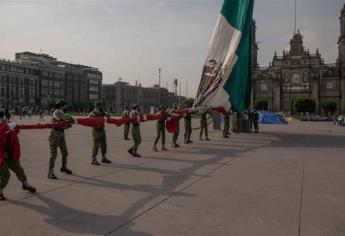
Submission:
<svg viewBox="0 0 345 236">
<path fill-rule="evenodd" d="M 98 118 L 98 117 L 108 117 L 109 115 L 104 112 L 103 104 L 100 101 L 96 101 L 94 104 L 95 109 L 89 114 L 89 117 Z M 111 161 L 107 159 L 107 137 L 105 134 L 104 125 L 101 128 L 92 129 L 92 138 L 93 138 L 93 148 L 92 148 L 92 165 L 100 165 L 97 161 L 98 149 L 101 148 L 102 153 L 102 163 L 110 164 Z"/>
</svg>

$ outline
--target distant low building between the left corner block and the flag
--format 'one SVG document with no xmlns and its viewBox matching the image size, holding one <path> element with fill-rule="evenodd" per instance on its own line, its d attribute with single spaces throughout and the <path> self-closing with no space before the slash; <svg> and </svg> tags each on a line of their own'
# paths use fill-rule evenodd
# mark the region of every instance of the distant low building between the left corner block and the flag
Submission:
<svg viewBox="0 0 345 236">
<path fill-rule="evenodd" d="M 151 107 L 157 108 L 159 104 L 171 106 L 179 102 L 179 97 L 166 88 L 142 87 L 130 85 L 121 80 L 114 84 L 104 84 L 102 87 L 102 100 L 110 112 L 121 112 L 126 105 L 139 104 L 141 109 L 148 113 Z"/>
</svg>

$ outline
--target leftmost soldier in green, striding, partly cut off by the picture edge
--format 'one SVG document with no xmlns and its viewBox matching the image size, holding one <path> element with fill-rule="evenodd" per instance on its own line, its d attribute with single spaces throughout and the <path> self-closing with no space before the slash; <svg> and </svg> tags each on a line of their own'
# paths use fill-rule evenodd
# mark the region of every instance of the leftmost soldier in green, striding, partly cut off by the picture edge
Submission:
<svg viewBox="0 0 345 236">
<path fill-rule="evenodd" d="M 0 122 L 2 123 L 0 125 L 7 125 L 3 114 L 0 115 Z M 6 135 L 9 135 L 9 132 L 17 132 L 14 131 L 15 127 L 16 124 L 14 123 L 8 124 L 6 128 Z M 12 170 L 16 174 L 17 179 L 22 183 L 23 190 L 27 190 L 30 193 L 35 193 L 36 189 L 28 183 L 24 169 L 20 165 L 20 161 L 14 159 L 11 155 L 9 143 L 5 142 L 5 145 L 2 148 L 4 150 L 4 159 L 3 163 L 0 165 L 0 201 L 6 201 L 6 197 L 4 196 L 3 190 L 7 186 L 8 181 L 10 180 L 9 170 Z"/>
</svg>

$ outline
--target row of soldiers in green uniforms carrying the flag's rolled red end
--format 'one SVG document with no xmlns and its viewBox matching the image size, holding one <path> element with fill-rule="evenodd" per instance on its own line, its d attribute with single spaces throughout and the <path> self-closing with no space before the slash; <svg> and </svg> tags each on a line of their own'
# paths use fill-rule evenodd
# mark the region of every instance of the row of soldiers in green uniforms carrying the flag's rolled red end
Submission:
<svg viewBox="0 0 345 236">
<path fill-rule="evenodd" d="M 49 179 L 58 179 L 54 172 L 55 162 L 57 158 L 58 149 L 60 149 L 61 156 L 62 156 L 62 165 L 60 171 L 67 175 L 71 175 L 73 172 L 67 167 L 67 160 L 68 160 L 68 148 L 65 139 L 65 130 L 71 128 L 71 124 L 74 124 L 75 121 L 72 116 L 66 114 L 65 110 L 66 102 L 64 100 L 58 100 L 55 103 L 55 110 L 52 116 L 52 122 L 66 122 L 68 125 L 59 128 L 52 128 L 50 131 L 50 135 L 48 138 L 49 147 L 50 147 L 50 159 L 49 159 L 49 169 L 48 169 L 48 178 Z M 167 111 L 165 106 L 159 107 L 158 115 L 160 117 L 157 120 L 156 128 L 157 128 L 157 137 L 154 141 L 153 150 L 158 151 L 157 144 L 161 139 L 162 142 L 162 151 L 167 151 L 165 145 L 165 127 L 166 121 L 168 119 L 174 118 L 175 119 L 175 129 L 172 138 L 172 147 L 178 148 L 180 145 L 177 143 L 179 132 L 180 132 L 180 119 L 184 119 L 184 126 L 185 126 L 185 133 L 184 133 L 184 144 L 193 143 L 191 140 L 192 134 L 192 114 L 195 113 L 194 110 L 188 110 L 183 114 L 178 114 L 178 106 L 174 104 L 170 111 Z M 210 114 L 210 110 L 207 107 L 204 107 L 200 111 L 200 140 L 203 140 L 202 136 L 205 133 L 205 140 L 209 141 L 208 138 L 208 124 L 207 124 L 207 115 Z M 138 154 L 138 147 L 141 143 L 141 135 L 140 135 L 140 106 L 138 104 L 134 104 L 132 106 L 131 112 L 128 111 L 128 106 L 125 107 L 125 110 L 122 113 L 123 118 L 135 118 L 134 121 L 128 122 L 124 125 L 124 139 L 129 140 L 129 133 L 131 133 L 133 145 L 128 150 L 128 153 L 131 154 L 133 157 L 140 158 L 141 155 Z M 89 117 L 98 118 L 98 117 L 109 117 L 109 114 L 104 112 L 103 104 L 99 101 L 95 102 L 94 110 L 89 114 Z M 8 127 L 6 132 L 11 134 L 11 132 L 19 132 L 19 129 L 15 129 L 14 123 L 8 123 L 8 121 L 4 117 L 0 117 L 3 120 L 0 123 L 3 126 L 1 127 Z M 14 127 L 11 126 L 14 125 Z M 227 126 L 229 127 L 229 126 Z M 104 125 L 98 128 L 92 128 L 92 139 L 93 139 L 93 147 L 92 147 L 92 158 L 91 164 L 92 165 L 100 165 L 97 160 L 97 155 L 99 149 L 101 150 L 102 159 L 101 162 L 105 164 L 110 164 L 111 161 L 107 158 L 107 140 L 106 140 L 106 132 Z M 1 143 L 0 143 L 1 144 Z M 10 178 L 9 170 L 12 170 L 16 175 L 19 181 L 22 182 L 23 190 L 28 190 L 31 193 L 35 193 L 36 189 L 31 186 L 28 181 L 27 177 L 24 173 L 23 168 L 20 165 L 19 156 L 16 156 L 15 153 L 11 153 L 11 149 L 9 148 L 12 144 L 6 143 L 2 146 L 6 146 L 5 150 L 5 158 L 4 162 L 0 163 L 0 200 L 6 200 L 3 189 L 6 187 L 8 180 Z M 19 145 L 19 141 L 18 141 Z"/>
</svg>

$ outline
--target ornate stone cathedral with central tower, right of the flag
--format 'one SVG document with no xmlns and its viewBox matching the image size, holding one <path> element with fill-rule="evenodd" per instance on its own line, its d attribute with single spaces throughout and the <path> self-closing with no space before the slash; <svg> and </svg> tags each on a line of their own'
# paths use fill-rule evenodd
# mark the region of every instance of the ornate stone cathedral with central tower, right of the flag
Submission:
<svg viewBox="0 0 345 236">
<path fill-rule="evenodd" d="M 293 34 L 290 49 L 282 55 L 274 53 L 268 67 L 259 67 L 258 46 L 255 43 L 256 26 L 252 27 L 253 101 L 264 100 L 273 112 L 292 112 L 296 97 L 309 97 L 316 102 L 316 114 L 322 114 L 323 101 L 333 100 L 336 112 L 345 112 L 345 5 L 341 10 L 338 59 L 325 64 L 317 49 L 309 52 L 303 45 L 303 36 Z"/>
</svg>

